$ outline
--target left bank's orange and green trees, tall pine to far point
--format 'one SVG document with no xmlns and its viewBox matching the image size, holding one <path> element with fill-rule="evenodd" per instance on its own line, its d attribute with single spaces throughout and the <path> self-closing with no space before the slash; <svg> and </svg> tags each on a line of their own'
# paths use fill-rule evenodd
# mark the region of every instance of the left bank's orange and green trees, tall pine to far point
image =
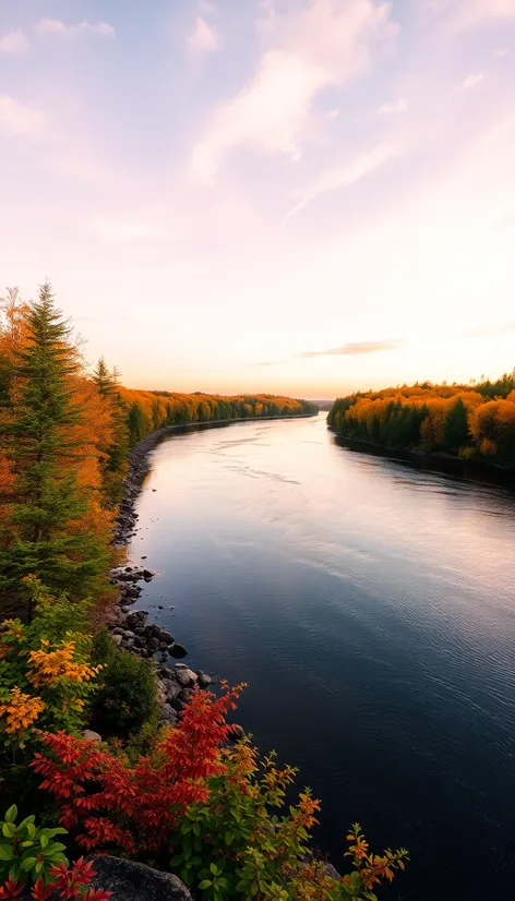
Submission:
<svg viewBox="0 0 515 901">
<path fill-rule="evenodd" d="M 131 391 L 103 359 L 88 372 L 50 286 L 36 302 L 0 301 L 0 594 L 98 596 L 112 562 L 112 526 L 130 449 L 161 427 L 302 416 L 313 404 Z"/>
</svg>

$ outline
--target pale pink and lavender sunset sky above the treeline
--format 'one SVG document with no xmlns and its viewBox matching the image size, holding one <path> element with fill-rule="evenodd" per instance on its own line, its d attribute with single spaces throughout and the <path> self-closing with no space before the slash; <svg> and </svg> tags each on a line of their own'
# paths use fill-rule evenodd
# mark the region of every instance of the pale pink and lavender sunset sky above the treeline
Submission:
<svg viewBox="0 0 515 901">
<path fill-rule="evenodd" d="M 130 387 L 515 365 L 515 0 L 0 0 L 0 293 Z"/>
</svg>

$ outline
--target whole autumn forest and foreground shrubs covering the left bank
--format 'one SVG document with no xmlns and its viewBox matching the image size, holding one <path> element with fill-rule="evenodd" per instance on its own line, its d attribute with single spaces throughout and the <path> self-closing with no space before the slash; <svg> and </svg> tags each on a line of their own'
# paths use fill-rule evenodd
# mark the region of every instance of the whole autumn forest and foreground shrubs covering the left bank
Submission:
<svg viewBox="0 0 515 901">
<path fill-rule="evenodd" d="M 131 447 L 170 424 L 316 408 L 127 389 L 104 360 L 88 371 L 49 285 L 1 311 L 0 899 L 109 901 L 85 856 L 107 853 L 180 877 L 181 899 L 373 901 L 406 851 L 373 853 L 354 824 L 346 873 L 327 869 L 311 846 L 320 803 L 292 797 L 295 769 L 230 741 L 244 686 L 212 690 L 188 668 L 165 680 L 106 627 Z"/>
</svg>

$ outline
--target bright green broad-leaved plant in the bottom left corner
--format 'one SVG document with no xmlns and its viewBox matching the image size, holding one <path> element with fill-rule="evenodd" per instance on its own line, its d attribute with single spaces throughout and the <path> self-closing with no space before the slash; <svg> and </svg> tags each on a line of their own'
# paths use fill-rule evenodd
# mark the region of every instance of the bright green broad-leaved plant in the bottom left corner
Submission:
<svg viewBox="0 0 515 901">
<path fill-rule="evenodd" d="M 65 829 L 38 827 L 34 816 L 25 817 L 16 825 L 16 817 L 17 807 L 13 804 L 0 820 L 1 880 L 11 879 L 22 885 L 28 880 L 36 882 L 39 877 L 47 879 L 52 867 L 68 866 L 65 845 L 53 841 L 56 836 L 65 836 Z"/>
</svg>

